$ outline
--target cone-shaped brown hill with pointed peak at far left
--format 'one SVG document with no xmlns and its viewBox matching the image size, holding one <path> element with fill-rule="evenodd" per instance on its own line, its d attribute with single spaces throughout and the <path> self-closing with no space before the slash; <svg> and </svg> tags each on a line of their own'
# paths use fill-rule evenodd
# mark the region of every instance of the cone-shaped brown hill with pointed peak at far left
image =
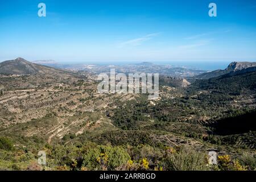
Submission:
<svg viewBox="0 0 256 182">
<path fill-rule="evenodd" d="M 0 89 L 44 88 L 86 78 L 76 72 L 34 64 L 22 58 L 0 63 Z"/>
</svg>

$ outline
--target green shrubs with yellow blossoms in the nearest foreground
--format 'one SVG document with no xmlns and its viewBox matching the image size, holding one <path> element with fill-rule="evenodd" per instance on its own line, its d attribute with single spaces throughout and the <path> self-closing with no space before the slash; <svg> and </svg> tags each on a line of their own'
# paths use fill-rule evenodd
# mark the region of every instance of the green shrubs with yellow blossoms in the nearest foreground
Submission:
<svg viewBox="0 0 256 182">
<path fill-rule="evenodd" d="M 207 152 L 192 147 L 152 147 L 99 145 L 93 142 L 46 144 L 46 165 L 38 164 L 35 151 L 10 148 L 9 139 L 1 138 L 0 169 L 4 170 L 255 170 L 256 155 L 243 153 L 238 158 L 218 156 L 217 165 L 208 164 Z M 5 148 L 5 150 L 3 150 Z"/>
</svg>

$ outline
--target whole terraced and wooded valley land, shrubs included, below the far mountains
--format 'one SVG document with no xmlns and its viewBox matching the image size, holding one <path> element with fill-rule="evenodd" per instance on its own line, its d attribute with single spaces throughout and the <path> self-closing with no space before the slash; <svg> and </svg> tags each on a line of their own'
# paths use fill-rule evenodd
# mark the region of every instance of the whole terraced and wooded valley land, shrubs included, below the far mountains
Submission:
<svg viewBox="0 0 256 182">
<path fill-rule="evenodd" d="M 190 85 L 160 77 L 159 99 L 149 101 L 100 94 L 95 75 L 63 71 L 66 79 L 24 63 L 35 75 L 0 75 L 0 169 L 214 170 L 209 150 L 228 155 L 232 169 L 256 168 L 243 160 L 255 161 L 256 72 Z M 35 163 L 41 150 L 43 167 Z"/>
</svg>

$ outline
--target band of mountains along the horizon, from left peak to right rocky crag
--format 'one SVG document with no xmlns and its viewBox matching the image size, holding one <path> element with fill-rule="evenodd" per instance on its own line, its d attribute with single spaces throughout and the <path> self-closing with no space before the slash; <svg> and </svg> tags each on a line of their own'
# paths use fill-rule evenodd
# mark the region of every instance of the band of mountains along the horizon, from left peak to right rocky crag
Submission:
<svg viewBox="0 0 256 182">
<path fill-rule="evenodd" d="M 55 61 L 48 60 L 48 61 L 27 61 L 22 57 L 18 57 L 14 60 L 7 60 L 0 63 L 0 73 L 2 74 L 9 74 L 9 75 L 36 75 L 36 74 L 48 74 L 48 75 L 63 75 L 63 74 L 71 74 L 68 70 L 72 69 L 72 66 L 69 65 L 68 70 L 60 68 L 52 68 L 56 64 Z M 52 67 L 48 66 L 52 65 Z M 77 65 L 75 65 L 76 67 Z M 112 66 L 112 68 L 117 69 L 118 72 L 129 72 L 131 69 L 134 69 L 135 72 L 154 72 L 162 70 L 164 75 L 170 74 L 170 76 L 188 76 L 189 74 L 195 75 L 195 78 L 200 79 L 209 79 L 213 77 L 218 77 L 222 75 L 232 76 L 238 75 L 242 73 L 249 73 L 256 71 L 256 62 L 232 62 L 228 65 L 226 69 L 217 69 L 216 71 L 212 72 L 205 72 L 200 73 L 200 71 L 192 71 L 186 70 L 185 68 L 172 68 L 170 66 L 164 65 L 155 65 L 148 62 L 143 62 L 140 64 L 135 65 L 126 65 L 126 66 Z M 93 68 L 87 69 L 87 67 L 81 67 L 78 70 L 84 69 L 87 72 L 94 72 L 100 73 L 102 71 L 108 72 L 110 69 L 108 66 L 97 66 L 94 65 Z M 157 70 L 154 70 L 157 69 Z M 180 73 L 178 73 L 180 72 Z M 194 73 L 193 73 L 194 72 Z M 197 75 L 196 75 L 197 72 Z"/>
</svg>

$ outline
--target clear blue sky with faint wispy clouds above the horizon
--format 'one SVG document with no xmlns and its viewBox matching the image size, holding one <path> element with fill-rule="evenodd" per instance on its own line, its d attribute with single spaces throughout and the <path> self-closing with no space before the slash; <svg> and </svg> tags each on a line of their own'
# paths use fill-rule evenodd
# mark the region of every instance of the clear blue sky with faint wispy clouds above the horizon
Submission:
<svg viewBox="0 0 256 182">
<path fill-rule="evenodd" d="M 46 17 L 38 4 L 46 3 Z M 209 17 L 208 5 L 217 5 Z M 0 61 L 256 61 L 256 1 L 0 1 Z"/>
</svg>

